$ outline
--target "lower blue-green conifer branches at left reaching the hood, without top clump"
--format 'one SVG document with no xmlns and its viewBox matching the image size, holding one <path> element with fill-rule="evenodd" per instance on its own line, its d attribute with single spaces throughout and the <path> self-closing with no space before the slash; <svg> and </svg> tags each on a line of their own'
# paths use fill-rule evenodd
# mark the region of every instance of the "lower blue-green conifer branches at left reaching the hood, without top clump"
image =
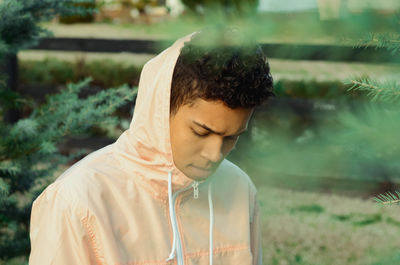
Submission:
<svg viewBox="0 0 400 265">
<path fill-rule="evenodd" d="M 80 91 L 89 82 L 69 84 L 49 96 L 45 104 L 31 106 L 33 112 L 15 124 L 0 122 L 4 135 L 0 140 L 0 260 L 28 254 L 32 201 L 54 180 L 60 165 L 82 155 L 61 154 L 58 144 L 94 125 L 116 127 L 119 121 L 111 114 L 132 101 L 136 93 L 122 86 L 80 98 Z"/>
</svg>

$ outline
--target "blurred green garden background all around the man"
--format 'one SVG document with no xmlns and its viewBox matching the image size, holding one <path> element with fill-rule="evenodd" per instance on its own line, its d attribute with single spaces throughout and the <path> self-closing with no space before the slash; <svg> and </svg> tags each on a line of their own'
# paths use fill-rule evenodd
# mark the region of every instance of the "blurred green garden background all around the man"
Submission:
<svg viewBox="0 0 400 265">
<path fill-rule="evenodd" d="M 128 128 L 144 63 L 221 26 L 274 78 L 229 156 L 258 188 L 264 264 L 400 264 L 398 206 L 373 201 L 400 190 L 397 0 L 0 0 L 0 264 L 27 264 L 38 194 Z"/>
</svg>

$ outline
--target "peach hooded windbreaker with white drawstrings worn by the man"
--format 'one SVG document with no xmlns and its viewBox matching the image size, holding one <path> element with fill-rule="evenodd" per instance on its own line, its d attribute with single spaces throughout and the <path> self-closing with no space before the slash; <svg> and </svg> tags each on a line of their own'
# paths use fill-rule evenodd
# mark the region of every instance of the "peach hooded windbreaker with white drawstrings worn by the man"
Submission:
<svg viewBox="0 0 400 265">
<path fill-rule="evenodd" d="M 258 201 L 249 177 L 224 160 L 199 183 L 173 163 L 170 86 L 190 38 L 144 66 L 130 128 L 35 200 L 29 264 L 262 263 Z"/>
</svg>

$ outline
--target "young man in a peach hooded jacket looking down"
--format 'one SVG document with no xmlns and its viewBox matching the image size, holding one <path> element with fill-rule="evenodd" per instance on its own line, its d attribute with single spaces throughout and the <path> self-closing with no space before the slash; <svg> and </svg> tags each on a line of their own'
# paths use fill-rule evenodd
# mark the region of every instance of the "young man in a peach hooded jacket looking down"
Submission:
<svg viewBox="0 0 400 265">
<path fill-rule="evenodd" d="M 224 158 L 272 77 L 259 47 L 207 38 L 150 60 L 130 128 L 35 200 L 29 264 L 262 263 L 256 189 Z"/>
</svg>

